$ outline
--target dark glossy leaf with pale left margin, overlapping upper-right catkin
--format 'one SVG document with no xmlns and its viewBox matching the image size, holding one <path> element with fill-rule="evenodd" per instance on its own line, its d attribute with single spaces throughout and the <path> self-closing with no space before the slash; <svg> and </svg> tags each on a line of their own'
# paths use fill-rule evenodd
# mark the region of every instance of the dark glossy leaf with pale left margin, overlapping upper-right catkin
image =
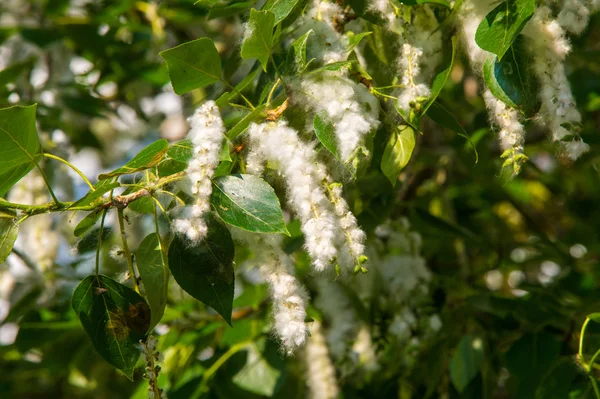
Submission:
<svg viewBox="0 0 600 399">
<path fill-rule="evenodd" d="M 496 98 L 533 115 L 538 109 L 537 81 L 529 72 L 530 57 L 525 51 L 524 40 L 516 40 L 502 61 L 490 54 L 483 65 L 483 78 Z"/>
</svg>

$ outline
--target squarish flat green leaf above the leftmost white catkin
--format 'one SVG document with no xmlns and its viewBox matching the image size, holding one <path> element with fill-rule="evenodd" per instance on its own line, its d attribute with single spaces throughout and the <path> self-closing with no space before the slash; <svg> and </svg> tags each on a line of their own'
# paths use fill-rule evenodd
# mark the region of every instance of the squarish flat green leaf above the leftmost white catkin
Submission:
<svg viewBox="0 0 600 399">
<path fill-rule="evenodd" d="M 203 37 L 160 52 L 173 90 L 185 94 L 221 80 L 221 58 L 212 40 Z"/>
</svg>

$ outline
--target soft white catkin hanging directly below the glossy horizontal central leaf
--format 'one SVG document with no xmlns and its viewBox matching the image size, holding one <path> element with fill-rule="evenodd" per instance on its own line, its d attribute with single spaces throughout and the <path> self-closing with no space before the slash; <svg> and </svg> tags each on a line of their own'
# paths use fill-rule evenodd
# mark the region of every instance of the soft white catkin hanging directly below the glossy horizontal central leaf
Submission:
<svg viewBox="0 0 600 399">
<path fill-rule="evenodd" d="M 231 229 L 234 237 L 248 243 L 255 252 L 255 262 L 269 284 L 273 302 L 273 328 L 281 341 L 283 350 L 291 355 L 304 346 L 308 335 L 306 307 L 308 294 L 294 275 L 294 265 L 282 249 L 280 236 L 257 235 Z"/>
</svg>

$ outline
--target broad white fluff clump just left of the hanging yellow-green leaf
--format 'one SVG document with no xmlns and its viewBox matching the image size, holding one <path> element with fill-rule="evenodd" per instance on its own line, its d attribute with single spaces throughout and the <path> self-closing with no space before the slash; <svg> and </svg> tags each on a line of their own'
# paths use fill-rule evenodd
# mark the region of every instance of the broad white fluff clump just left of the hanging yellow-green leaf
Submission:
<svg viewBox="0 0 600 399">
<path fill-rule="evenodd" d="M 294 103 L 324 114 L 335 127 L 342 161 L 349 161 L 364 137 L 379 125 L 377 99 L 365 86 L 344 77 L 308 78 L 296 86 Z"/>
</svg>

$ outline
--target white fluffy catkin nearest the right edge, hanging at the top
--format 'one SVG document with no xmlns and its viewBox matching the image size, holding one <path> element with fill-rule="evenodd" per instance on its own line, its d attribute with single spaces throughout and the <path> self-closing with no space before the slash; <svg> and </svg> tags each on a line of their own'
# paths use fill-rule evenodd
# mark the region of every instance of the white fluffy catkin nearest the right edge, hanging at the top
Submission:
<svg viewBox="0 0 600 399">
<path fill-rule="evenodd" d="M 581 123 L 565 73 L 564 60 L 570 51 L 568 40 L 559 20 L 554 20 L 551 10 L 545 6 L 536 9 L 523 34 L 534 54 L 533 70 L 541 86 L 538 120 L 548 127 L 553 140 L 561 141 L 571 134 L 565 126 Z M 580 138 L 561 142 L 561 145 L 571 160 L 589 150 Z"/>
</svg>

